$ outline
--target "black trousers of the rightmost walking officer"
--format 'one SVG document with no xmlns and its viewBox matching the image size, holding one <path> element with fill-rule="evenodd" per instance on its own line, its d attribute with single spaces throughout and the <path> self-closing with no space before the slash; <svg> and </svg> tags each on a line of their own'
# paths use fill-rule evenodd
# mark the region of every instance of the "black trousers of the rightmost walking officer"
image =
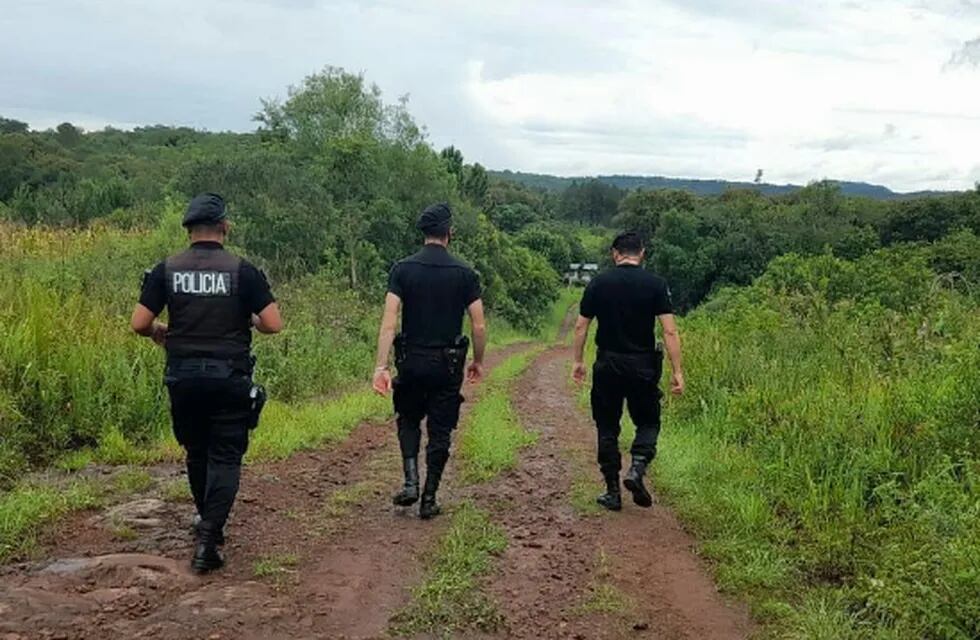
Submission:
<svg viewBox="0 0 980 640">
<path fill-rule="evenodd" d="M 606 477 L 622 469 L 619 455 L 623 401 L 636 425 L 630 453 L 650 462 L 660 435 L 660 375 L 663 353 L 600 351 L 592 368 L 592 417 L 598 430 L 599 469 Z"/>
</svg>

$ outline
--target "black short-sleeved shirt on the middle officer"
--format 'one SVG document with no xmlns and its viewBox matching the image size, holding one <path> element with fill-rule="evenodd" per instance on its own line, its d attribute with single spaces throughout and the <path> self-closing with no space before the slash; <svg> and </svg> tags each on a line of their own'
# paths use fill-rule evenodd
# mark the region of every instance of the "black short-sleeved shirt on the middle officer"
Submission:
<svg viewBox="0 0 980 640">
<path fill-rule="evenodd" d="M 476 272 L 432 244 L 394 266 L 388 291 L 402 301 L 406 342 L 421 347 L 452 345 L 463 332 L 466 309 L 481 295 Z"/>
</svg>

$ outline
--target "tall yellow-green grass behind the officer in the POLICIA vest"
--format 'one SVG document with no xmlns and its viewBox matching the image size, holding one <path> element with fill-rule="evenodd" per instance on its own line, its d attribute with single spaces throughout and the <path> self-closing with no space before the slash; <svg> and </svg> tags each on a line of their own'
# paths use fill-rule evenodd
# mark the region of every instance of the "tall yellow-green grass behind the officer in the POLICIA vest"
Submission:
<svg viewBox="0 0 980 640">
<path fill-rule="evenodd" d="M 144 269 L 186 244 L 179 221 L 168 205 L 148 232 L 0 225 L 0 488 L 69 451 L 166 439 L 163 351 L 132 334 L 129 314 Z M 366 380 L 376 319 L 364 302 L 317 277 L 274 290 L 287 328 L 255 343 L 274 397 Z"/>
</svg>

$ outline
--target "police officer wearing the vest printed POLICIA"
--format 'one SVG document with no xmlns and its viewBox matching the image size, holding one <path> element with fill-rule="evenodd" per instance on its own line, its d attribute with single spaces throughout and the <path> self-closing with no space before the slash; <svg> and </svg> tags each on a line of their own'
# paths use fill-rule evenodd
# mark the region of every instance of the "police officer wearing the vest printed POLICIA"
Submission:
<svg viewBox="0 0 980 640">
<path fill-rule="evenodd" d="M 252 383 L 252 327 L 278 333 L 282 319 L 264 274 L 224 249 L 229 223 L 221 196 L 194 198 L 183 224 L 191 246 L 147 272 L 132 326 L 167 351 L 174 435 L 187 452 L 198 513 L 191 564 L 204 573 L 224 564 L 217 547 L 264 401 Z M 169 326 L 156 320 L 164 307 Z"/>
</svg>

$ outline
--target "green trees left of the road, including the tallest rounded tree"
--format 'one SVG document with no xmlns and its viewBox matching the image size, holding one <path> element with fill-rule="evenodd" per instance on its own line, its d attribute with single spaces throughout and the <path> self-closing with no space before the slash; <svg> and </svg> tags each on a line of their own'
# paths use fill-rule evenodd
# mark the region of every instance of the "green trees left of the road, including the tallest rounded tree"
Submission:
<svg viewBox="0 0 980 640">
<path fill-rule="evenodd" d="M 0 219 L 152 229 L 168 202 L 201 191 L 229 201 L 234 241 L 276 280 L 318 274 L 376 297 L 392 263 L 419 243 L 426 205 L 456 211 L 455 249 L 480 272 L 491 311 L 535 328 L 559 273 L 586 258 L 544 197 L 491 181 L 462 153 L 438 153 L 404 101 L 327 68 L 268 100 L 254 133 L 181 127 L 34 132 L 0 120 Z"/>
</svg>

